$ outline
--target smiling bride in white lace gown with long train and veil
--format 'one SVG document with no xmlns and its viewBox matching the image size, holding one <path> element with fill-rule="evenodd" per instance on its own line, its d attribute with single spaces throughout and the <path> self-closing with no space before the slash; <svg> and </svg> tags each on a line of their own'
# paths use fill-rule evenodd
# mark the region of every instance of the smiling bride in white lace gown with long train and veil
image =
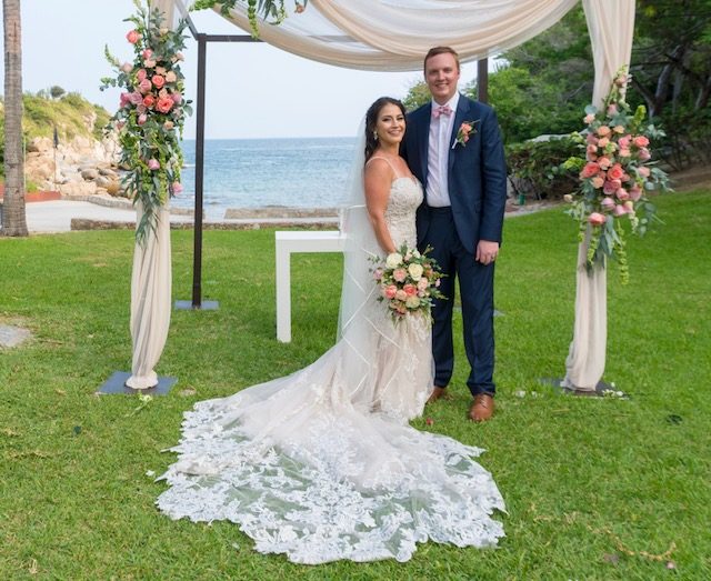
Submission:
<svg viewBox="0 0 711 581">
<path fill-rule="evenodd" d="M 415 247 L 422 188 L 398 156 L 404 108 L 365 114 L 344 212 L 339 340 L 311 365 L 186 413 L 179 453 L 157 500 L 172 519 L 229 520 L 262 553 L 297 563 L 407 561 L 418 542 L 492 547 L 503 510 L 472 460 L 481 450 L 408 420 L 432 391 L 430 321 L 393 324 L 369 257 Z"/>
</svg>

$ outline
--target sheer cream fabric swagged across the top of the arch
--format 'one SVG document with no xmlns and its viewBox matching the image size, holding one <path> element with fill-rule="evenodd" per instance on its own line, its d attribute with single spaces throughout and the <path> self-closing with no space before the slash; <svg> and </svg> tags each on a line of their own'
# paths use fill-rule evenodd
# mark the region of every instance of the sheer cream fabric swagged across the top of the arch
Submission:
<svg viewBox="0 0 711 581">
<path fill-rule="evenodd" d="M 371 71 L 421 70 L 437 44 L 461 60 L 515 47 L 558 22 L 578 0 L 309 0 L 260 38 L 307 59 Z M 219 10 L 219 9 L 217 9 Z M 230 20 L 249 30 L 244 8 Z"/>
</svg>

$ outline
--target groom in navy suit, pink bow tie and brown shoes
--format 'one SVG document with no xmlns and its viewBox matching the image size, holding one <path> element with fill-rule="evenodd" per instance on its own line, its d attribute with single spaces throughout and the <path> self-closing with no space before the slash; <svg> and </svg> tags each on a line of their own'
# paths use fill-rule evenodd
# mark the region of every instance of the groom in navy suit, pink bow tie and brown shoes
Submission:
<svg viewBox="0 0 711 581">
<path fill-rule="evenodd" d="M 473 421 L 493 414 L 493 267 L 501 243 L 507 199 L 507 167 L 493 110 L 457 91 L 459 57 L 435 47 L 424 58 L 424 81 L 432 101 L 408 114 L 402 156 L 422 182 L 424 201 L 418 209 L 418 246 L 447 277 L 445 300 L 433 309 L 434 391 L 444 395 L 454 367 L 452 309 L 459 279 L 464 349 L 471 365 L 467 385 L 474 400 Z M 469 131 L 468 131 L 469 128 Z"/>
</svg>

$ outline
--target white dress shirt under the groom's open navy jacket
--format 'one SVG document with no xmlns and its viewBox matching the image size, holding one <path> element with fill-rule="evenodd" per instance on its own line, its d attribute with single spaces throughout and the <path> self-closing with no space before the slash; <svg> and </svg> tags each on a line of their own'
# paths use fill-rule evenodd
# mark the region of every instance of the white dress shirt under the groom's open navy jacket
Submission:
<svg viewBox="0 0 711 581">
<path fill-rule="evenodd" d="M 452 136 L 452 126 L 454 123 L 454 114 L 459 104 L 459 92 L 447 102 L 452 110 L 452 114 L 441 114 L 437 119 L 430 120 L 430 138 L 427 156 L 427 203 L 433 208 L 444 208 L 451 206 L 449 199 L 449 183 L 447 180 L 449 167 L 450 137 Z M 439 103 L 432 101 L 432 111 Z"/>
</svg>

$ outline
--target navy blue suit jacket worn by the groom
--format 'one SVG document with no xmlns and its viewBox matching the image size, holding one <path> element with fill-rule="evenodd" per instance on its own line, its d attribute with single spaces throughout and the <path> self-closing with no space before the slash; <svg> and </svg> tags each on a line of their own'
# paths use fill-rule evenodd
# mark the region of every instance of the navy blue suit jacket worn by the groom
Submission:
<svg viewBox="0 0 711 581">
<path fill-rule="evenodd" d="M 432 103 L 408 113 L 401 154 L 410 170 L 427 189 L 428 144 Z M 501 131 L 493 109 L 459 97 L 449 147 L 464 121 L 473 121 L 477 132 L 465 146 L 457 143 L 449 152 L 449 197 L 457 233 L 462 246 L 475 253 L 479 240 L 501 242 L 507 201 L 507 164 Z M 417 213 L 418 241 L 424 240 L 430 226 L 429 206 L 422 202 Z"/>
</svg>

